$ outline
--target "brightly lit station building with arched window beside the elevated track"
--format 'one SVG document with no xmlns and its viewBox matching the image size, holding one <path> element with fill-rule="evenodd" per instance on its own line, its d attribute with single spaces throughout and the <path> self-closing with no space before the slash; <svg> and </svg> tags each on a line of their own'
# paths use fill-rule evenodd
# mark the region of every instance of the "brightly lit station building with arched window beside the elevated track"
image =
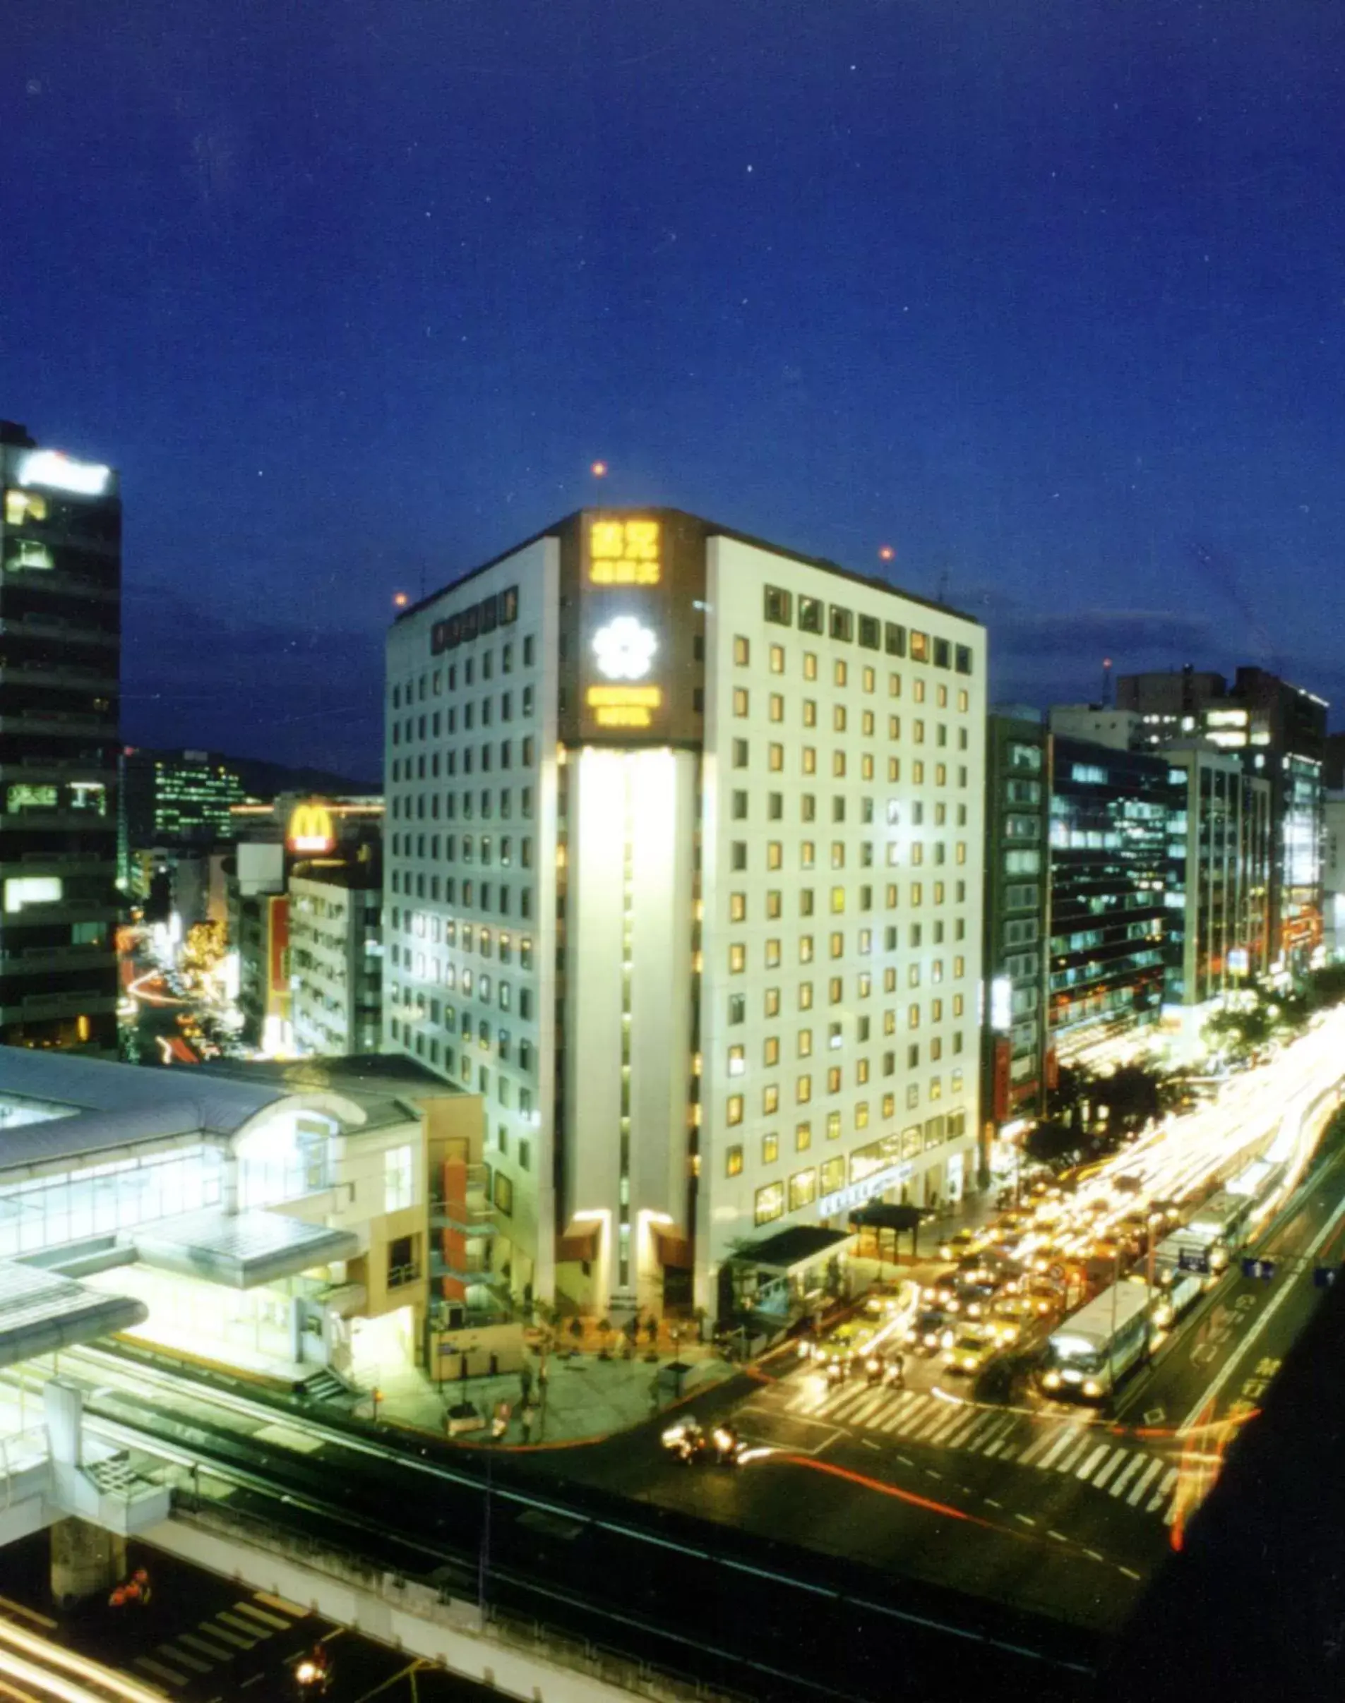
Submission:
<svg viewBox="0 0 1345 1703">
<path fill-rule="evenodd" d="M 423 1364 L 436 1177 L 479 1127 L 406 1059 L 188 1075 L 0 1047 L 0 1362 L 10 1330 L 27 1352 L 124 1330 L 297 1386 Z"/>
</svg>

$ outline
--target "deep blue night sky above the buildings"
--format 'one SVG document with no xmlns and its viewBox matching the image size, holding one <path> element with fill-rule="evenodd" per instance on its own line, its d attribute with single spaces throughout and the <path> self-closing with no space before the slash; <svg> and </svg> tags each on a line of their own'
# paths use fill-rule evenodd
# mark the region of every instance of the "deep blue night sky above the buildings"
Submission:
<svg viewBox="0 0 1345 1703">
<path fill-rule="evenodd" d="M 1330 0 L 12 0 L 0 414 L 123 470 L 126 737 L 377 775 L 392 594 L 597 499 L 890 542 L 999 697 L 1345 700 L 1343 66 Z"/>
</svg>

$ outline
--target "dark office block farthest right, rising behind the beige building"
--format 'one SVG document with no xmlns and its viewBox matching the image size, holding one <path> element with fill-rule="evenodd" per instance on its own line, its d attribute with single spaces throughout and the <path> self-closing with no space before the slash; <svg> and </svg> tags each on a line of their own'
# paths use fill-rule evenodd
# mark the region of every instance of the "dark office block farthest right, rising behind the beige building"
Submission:
<svg viewBox="0 0 1345 1703">
<path fill-rule="evenodd" d="M 1122 674 L 1118 708 L 1135 710 L 1146 746 L 1200 734 L 1270 782 L 1270 969 L 1306 969 L 1323 952 L 1323 760 L 1326 702 L 1261 668 Z"/>
</svg>

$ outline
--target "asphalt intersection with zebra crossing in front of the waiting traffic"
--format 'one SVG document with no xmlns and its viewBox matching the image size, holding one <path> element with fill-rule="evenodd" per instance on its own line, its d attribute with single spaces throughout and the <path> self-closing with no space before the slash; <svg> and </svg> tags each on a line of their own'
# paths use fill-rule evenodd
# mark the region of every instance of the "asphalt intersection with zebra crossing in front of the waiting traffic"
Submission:
<svg viewBox="0 0 1345 1703">
<path fill-rule="evenodd" d="M 907 1391 L 827 1388 L 788 1357 L 697 1403 L 771 1453 L 689 1470 L 656 1427 L 564 1463 L 626 1495 L 885 1572 L 1113 1631 L 1168 1553 L 1210 1459 L 1255 1413 L 1311 1316 L 1316 1264 L 1345 1248 L 1345 1151 L 1326 1155 L 1258 1253 L 1270 1282 L 1227 1274 L 1122 1390 L 1111 1415 L 1030 1400 L 946 1400 L 919 1366 Z M 1345 1281 L 1345 1274 L 1342 1274 Z M 946 1381 L 946 1379 L 944 1379 Z M 540 1466 L 551 1465 L 537 1456 Z"/>
</svg>

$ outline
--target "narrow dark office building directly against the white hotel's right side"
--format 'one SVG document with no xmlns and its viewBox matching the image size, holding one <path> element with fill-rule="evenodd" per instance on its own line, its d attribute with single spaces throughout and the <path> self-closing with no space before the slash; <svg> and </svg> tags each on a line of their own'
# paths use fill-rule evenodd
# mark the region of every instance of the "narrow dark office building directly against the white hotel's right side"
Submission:
<svg viewBox="0 0 1345 1703">
<path fill-rule="evenodd" d="M 1036 710 L 992 710 L 985 729 L 984 1163 L 1047 1110 L 1050 736 Z"/>
</svg>

